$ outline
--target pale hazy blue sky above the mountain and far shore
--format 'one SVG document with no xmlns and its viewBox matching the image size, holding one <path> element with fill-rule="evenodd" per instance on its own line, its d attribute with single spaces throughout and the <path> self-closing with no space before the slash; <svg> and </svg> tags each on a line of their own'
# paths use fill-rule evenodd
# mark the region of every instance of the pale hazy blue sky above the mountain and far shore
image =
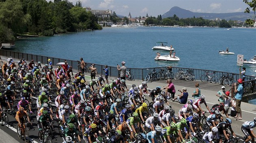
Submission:
<svg viewBox="0 0 256 143">
<path fill-rule="evenodd" d="M 49 0 L 47 0 L 49 1 Z M 77 0 L 69 0 L 76 4 Z M 117 15 L 132 17 L 163 15 L 172 7 L 178 6 L 199 13 L 243 12 L 247 4 L 243 0 L 80 0 L 82 6 L 91 9 L 112 10 Z"/>
</svg>

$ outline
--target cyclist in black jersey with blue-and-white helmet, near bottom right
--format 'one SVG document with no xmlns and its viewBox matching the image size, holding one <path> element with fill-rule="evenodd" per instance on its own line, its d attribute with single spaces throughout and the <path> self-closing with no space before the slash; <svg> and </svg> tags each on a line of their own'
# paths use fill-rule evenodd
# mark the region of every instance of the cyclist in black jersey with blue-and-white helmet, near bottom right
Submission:
<svg viewBox="0 0 256 143">
<path fill-rule="evenodd" d="M 230 135 L 227 135 L 227 128 L 230 129 L 231 131 L 231 134 L 236 137 L 234 131 L 232 130 L 231 128 L 231 123 L 232 123 L 232 120 L 230 118 L 226 118 L 226 122 L 221 122 L 219 123 L 216 127 L 218 128 L 219 130 L 219 135 L 224 135 L 224 137 L 226 138 L 226 140 L 228 140 L 228 143 L 230 143 L 230 140 L 229 140 L 229 136 Z"/>
</svg>

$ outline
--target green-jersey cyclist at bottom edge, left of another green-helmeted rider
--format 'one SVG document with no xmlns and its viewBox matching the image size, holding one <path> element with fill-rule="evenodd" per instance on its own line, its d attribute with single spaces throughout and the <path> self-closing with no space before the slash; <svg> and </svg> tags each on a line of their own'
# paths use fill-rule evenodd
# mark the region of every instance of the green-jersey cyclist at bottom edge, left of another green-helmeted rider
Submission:
<svg viewBox="0 0 256 143">
<path fill-rule="evenodd" d="M 171 126 L 166 126 L 165 128 L 163 128 L 162 134 L 165 142 L 174 143 L 175 137 L 178 137 L 178 130 L 176 124 L 174 122 L 171 122 Z"/>
</svg>

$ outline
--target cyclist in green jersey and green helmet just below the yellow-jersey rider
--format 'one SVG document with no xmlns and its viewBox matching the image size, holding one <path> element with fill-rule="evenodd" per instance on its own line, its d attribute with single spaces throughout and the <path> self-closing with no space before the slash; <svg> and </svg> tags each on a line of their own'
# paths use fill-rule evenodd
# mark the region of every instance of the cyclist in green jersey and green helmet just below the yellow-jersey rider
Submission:
<svg viewBox="0 0 256 143">
<path fill-rule="evenodd" d="M 139 114 L 136 113 L 136 112 L 133 112 L 132 113 L 132 117 L 128 118 L 126 120 L 127 124 L 128 124 L 128 127 L 130 129 L 130 132 L 131 132 L 131 136 L 130 136 L 130 139 L 134 139 L 134 135 L 133 134 L 136 134 L 137 131 L 136 129 L 138 130 L 138 126 L 141 126 L 141 129 L 143 130 L 143 132 L 145 132 L 142 124 L 141 124 L 141 120 L 139 119 Z"/>
</svg>

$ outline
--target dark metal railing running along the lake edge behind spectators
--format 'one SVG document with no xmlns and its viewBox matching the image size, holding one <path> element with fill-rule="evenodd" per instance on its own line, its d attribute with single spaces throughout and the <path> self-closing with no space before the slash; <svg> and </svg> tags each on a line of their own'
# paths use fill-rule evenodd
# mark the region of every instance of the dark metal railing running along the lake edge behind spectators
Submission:
<svg viewBox="0 0 256 143">
<path fill-rule="evenodd" d="M 78 61 L 73 61 L 69 59 L 60 59 L 60 58 L 54 58 L 54 57 L 47 57 L 47 56 L 41 56 L 41 55 L 33 55 L 33 54 L 28 54 L 28 53 L 20 53 L 20 52 L 15 52 L 11 50 L 2 50 L 0 49 L 0 55 L 3 55 L 5 57 L 13 57 L 15 59 L 26 59 L 30 61 L 33 59 L 34 61 L 38 62 L 41 61 L 42 64 L 48 63 L 48 59 L 51 59 L 53 65 L 57 65 L 57 63 L 60 62 L 65 62 L 67 61 L 68 65 L 72 66 L 73 69 L 79 70 L 80 67 L 78 65 Z M 89 68 L 92 63 L 86 63 L 85 68 Z M 97 73 L 104 75 L 104 67 L 105 65 L 99 65 L 95 64 L 95 67 L 97 68 Z M 155 71 L 159 72 L 161 69 L 166 69 L 167 67 L 152 67 L 152 68 L 128 68 L 127 71 L 130 71 L 130 74 L 133 76 L 134 79 L 139 79 L 139 80 L 144 80 L 144 78 L 148 75 L 149 70 L 150 71 Z M 238 80 L 240 78 L 239 74 L 233 74 L 233 73 L 228 73 L 228 72 L 223 72 L 223 71 L 213 71 L 213 70 L 205 70 L 205 69 L 191 69 L 191 68 L 182 68 L 182 67 L 172 67 L 172 72 L 176 74 L 178 70 L 181 69 L 183 71 L 189 70 L 191 73 L 195 75 L 195 80 L 200 80 L 200 77 L 208 72 L 209 74 L 214 74 L 218 78 L 221 78 L 223 75 L 225 76 L 233 76 L 234 80 Z M 117 70 L 117 67 L 112 67 L 108 66 L 108 71 L 109 75 L 111 77 L 119 77 L 120 76 L 120 71 Z M 87 70 L 89 72 L 89 70 Z M 244 87 L 244 95 L 254 93 L 256 92 L 256 77 L 254 76 L 245 76 L 246 81 L 243 82 L 243 87 Z"/>
</svg>

